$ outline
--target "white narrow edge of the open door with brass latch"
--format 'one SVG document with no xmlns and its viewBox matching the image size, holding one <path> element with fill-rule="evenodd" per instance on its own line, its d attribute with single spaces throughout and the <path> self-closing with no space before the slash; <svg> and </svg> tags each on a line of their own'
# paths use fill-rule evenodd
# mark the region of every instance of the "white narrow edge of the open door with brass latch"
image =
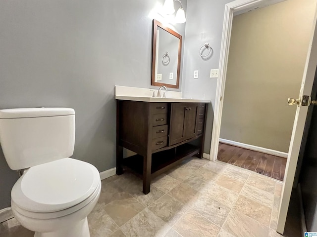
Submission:
<svg viewBox="0 0 317 237">
<path fill-rule="evenodd" d="M 284 233 L 285 221 L 289 206 L 289 201 L 291 197 L 295 171 L 299 156 L 299 151 L 301 147 L 308 106 L 302 105 L 303 95 L 311 95 L 313 82 L 315 78 L 316 66 L 317 66 L 317 28 L 316 28 L 316 19 L 317 16 L 315 14 L 315 19 L 313 23 L 313 32 L 312 32 L 312 40 L 310 42 L 310 47 L 307 54 L 306 65 L 301 85 L 301 90 L 299 94 L 299 98 L 301 101 L 296 110 L 295 121 L 293 126 L 293 132 L 291 137 L 291 143 L 288 151 L 288 158 L 285 169 L 285 178 L 283 191 L 281 196 L 281 203 L 279 209 L 279 217 L 277 222 L 277 232 L 280 234 Z M 291 95 L 290 95 L 291 96 Z M 295 95 L 294 95 L 295 96 Z M 286 98 L 285 98 L 286 99 Z"/>
</svg>

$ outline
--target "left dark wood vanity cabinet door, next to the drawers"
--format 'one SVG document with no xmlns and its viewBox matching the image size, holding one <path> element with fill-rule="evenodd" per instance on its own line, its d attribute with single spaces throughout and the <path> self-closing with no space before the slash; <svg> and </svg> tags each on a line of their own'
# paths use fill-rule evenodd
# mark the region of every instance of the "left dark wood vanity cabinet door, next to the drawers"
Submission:
<svg viewBox="0 0 317 237">
<path fill-rule="evenodd" d="M 184 134 L 185 111 L 187 103 L 172 103 L 169 126 L 169 145 L 186 140 Z"/>
</svg>

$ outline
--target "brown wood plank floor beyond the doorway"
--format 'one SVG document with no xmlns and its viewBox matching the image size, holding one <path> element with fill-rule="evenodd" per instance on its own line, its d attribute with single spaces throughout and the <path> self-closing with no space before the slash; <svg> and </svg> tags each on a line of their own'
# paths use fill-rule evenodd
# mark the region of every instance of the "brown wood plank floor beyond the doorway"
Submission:
<svg viewBox="0 0 317 237">
<path fill-rule="evenodd" d="M 219 143 L 218 160 L 283 181 L 287 159 Z"/>
</svg>

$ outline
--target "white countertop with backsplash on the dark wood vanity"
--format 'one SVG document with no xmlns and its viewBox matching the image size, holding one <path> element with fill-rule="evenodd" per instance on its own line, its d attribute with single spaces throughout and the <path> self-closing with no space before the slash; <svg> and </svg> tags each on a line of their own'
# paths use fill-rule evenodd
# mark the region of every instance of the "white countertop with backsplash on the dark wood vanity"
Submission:
<svg viewBox="0 0 317 237">
<path fill-rule="evenodd" d="M 152 91 L 151 91 L 152 90 Z M 210 100 L 182 98 L 182 92 L 166 91 L 167 98 L 152 97 L 153 90 L 157 94 L 158 90 L 138 87 L 118 86 L 114 87 L 116 100 L 130 100 L 142 102 L 184 102 L 184 103 L 211 103 Z"/>
</svg>

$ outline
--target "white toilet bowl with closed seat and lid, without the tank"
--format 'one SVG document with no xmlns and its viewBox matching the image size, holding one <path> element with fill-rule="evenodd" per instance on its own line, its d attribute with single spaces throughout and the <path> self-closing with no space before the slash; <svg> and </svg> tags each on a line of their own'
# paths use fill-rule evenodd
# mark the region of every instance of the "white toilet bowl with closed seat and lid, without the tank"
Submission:
<svg viewBox="0 0 317 237">
<path fill-rule="evenodd" d="M 11 206 L 15 218 L 36 237 L 88 237 L 87 215 L 100 192 L 93 165 L 63 158 L 27 170 L 12 188 Z"/>
</svg>

